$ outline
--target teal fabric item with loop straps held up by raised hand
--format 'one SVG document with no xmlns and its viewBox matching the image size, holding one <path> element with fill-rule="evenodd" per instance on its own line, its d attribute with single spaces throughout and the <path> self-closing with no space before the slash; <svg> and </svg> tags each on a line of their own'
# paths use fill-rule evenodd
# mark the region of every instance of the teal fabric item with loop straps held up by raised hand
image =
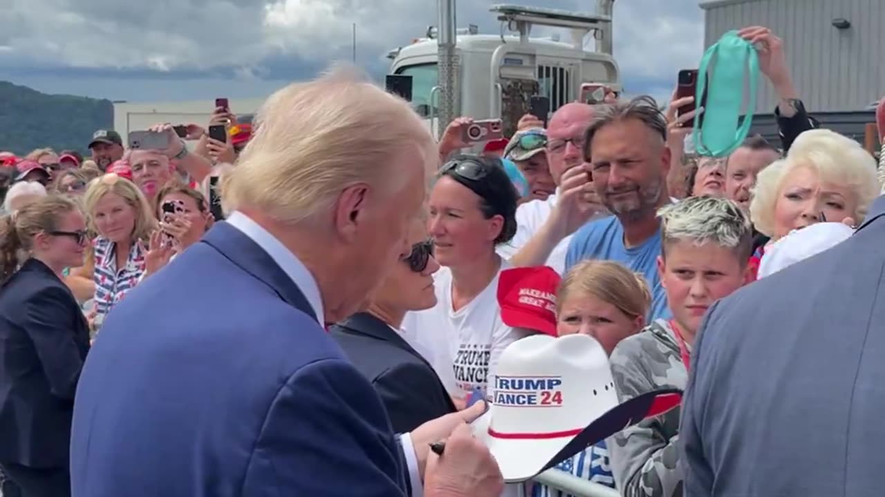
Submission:
<svg viewBox="0 0 885 497">
<path fill-rule="evenodd" d="M 704 76 L 710 69 L 711 61 L 712 74 L 707 78 Z M 699 124 L 700 116 L 695 116 L 692 140 L 696 152 L 701 156 L 727 157 L 741 146 L 753 124 L 759 80 L 756 48 L 741 38 L 737 31 L 729 31 L 704 53 L 697 74 L 695 102 L 702 102 L 704 92 L 706 102 L 703 124 Z M 747 115 L 738 126 L 743 103 L 743 81 L 748 78 L 750 99 L 747 102 Z"/>
</svg>

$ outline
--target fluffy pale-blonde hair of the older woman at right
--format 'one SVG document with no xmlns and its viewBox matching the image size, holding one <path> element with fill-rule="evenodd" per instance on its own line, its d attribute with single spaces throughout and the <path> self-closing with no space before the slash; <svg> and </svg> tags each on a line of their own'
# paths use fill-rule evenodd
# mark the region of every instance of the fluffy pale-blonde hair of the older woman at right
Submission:
<svg viewBox="0 0 885 497">
<path fill-rule="evenodd" d="M 866 218 L 866 210 L 879 195 L 876 161 L 860 143 L 828 129 L 805 131 L 793 141 L 787 157 L 774 161 L 758 174 L 750 201 L 750 218 L 759 233 L 773 236 L 774 205 L 783 180 L 800 167 L 811 168 L 821 180 L 850 188 L 858 197 L 858 210 L 851 213 L 858 224 Z"/>
</svg>

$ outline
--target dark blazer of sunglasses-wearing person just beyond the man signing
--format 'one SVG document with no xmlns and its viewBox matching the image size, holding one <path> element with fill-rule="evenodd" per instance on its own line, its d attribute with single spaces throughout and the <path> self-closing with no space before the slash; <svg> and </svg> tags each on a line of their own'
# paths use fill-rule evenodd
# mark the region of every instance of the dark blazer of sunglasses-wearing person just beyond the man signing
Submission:
<svg viewBox="0 0 885 497">
<path fill-rule="evenodd" d="M 430 363 L 380 318 L 358 312 L 331 326 L 329 333 L 381 396 L 395 432 L 411 432 L 455 412 Z"/>
</svg>

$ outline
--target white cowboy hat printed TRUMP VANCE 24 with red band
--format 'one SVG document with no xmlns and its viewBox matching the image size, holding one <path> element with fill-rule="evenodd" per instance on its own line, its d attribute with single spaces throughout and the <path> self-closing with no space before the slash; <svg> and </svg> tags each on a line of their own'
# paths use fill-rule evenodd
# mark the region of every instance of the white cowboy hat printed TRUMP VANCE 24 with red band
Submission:
<svg viewBox="0 0 885 497">
<path fill-rule="evenodd" d="M 678 406 L 680 390 L 620 403 L 608 356 L 587 335 L 532 335 L 504 349 L 489 409 L 471 424 L 504 481 L 526 481 L 646 417 Z"/>
</svg>

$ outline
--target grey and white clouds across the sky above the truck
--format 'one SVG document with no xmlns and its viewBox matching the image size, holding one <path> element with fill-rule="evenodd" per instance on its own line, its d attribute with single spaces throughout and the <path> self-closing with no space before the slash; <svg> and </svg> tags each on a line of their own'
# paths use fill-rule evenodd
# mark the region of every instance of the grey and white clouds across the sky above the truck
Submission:
<svg viewBox="0 0 885 497">
<path fill-rule="evenodd" d="M 504 0 L 460 0 L 458 26 L 499 30 L 489 13 Z M 146 69 L 158 72 L 235 68 L 273 77 L 287 57 L 309 63 L 350 58 L 358 25 L 360 62 L 383 65 L 387 50 L 436 23 L 435 0 L 3 0 L 0 67 Z M 519 3 L 519 2 L 512 2 Z M 525 0 L 592 11 L 595 0 Z M 675 77 L 703 51 L 695 0 L 618 0 L 615 55 L 642 78 Z M 271 65 L 266 65 L 273 60 Z M 2 73 L 2 70 L 0 70 Z M 0 75 L 2 76 L 2 75 Z"/>
</svg>

